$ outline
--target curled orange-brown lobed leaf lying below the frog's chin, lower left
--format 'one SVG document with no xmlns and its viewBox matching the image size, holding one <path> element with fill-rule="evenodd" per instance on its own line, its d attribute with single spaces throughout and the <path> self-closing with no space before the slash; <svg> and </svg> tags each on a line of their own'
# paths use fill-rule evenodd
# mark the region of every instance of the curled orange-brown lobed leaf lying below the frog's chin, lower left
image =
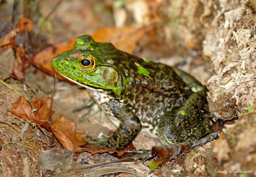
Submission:
<svg viewBox="0 0 256 177">
<path fill-rule="evenodd" d="M 40 127 L 45 128 L 48 132 L 52 132 L 56 139 L 60 142 L 60 144 L 68 150 L 80 150 L 79 146 L 85 144 L 85 141 L 82 139 L 86 135 L 84 132 L 76 132 L 76 124 L 74 122 L 70 122 L 70 120 L 65 119 L 62 116 L 56 118 L 55 121 L 52 121 L 50 118 L 50 122 L 47 121 L 49 109 L 50 109 L 50 97 L 42 98 L 38 100 L 36 98 L 31 102 L 33 108 L 36 111 L 32 112 L 32 108 L 28 102 L 26 102 L 25 98 L 22 96 L 12 105 L 12 109 L 9 111 L 15 114 L 16 116 L 28 120 L 30 115 L 30 121 L 38 124 Z M 52 114 L 54 111 L 52 111 Z"/>
</svg>

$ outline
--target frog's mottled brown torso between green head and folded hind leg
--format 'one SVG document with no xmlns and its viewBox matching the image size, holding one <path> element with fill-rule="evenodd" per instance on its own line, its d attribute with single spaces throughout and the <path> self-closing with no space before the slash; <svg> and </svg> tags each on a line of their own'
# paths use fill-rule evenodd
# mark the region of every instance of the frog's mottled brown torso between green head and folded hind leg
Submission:
<svg viewBox="0 0 256 177">
<path fill-rule="evenodd" d="M 124 91 L 118 100 L 140 118 L 142 131 L 157 138 L 159 120 L 166 111 L 186 100 L 191 94 L 190 88 L 168 65 L 149 62 L 122 51 L 111 55 L 111 61 L 115 61 L 113 64 L 122 75 Z M 145 71 L 148 74 L 143 73 Z"/>
</svg>

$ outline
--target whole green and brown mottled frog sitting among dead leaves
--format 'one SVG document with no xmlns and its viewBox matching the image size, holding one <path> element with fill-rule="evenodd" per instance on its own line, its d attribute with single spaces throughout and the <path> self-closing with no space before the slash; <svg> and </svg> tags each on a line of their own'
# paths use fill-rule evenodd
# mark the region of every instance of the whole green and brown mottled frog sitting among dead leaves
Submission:
<svg viewBox="0 0 256 177">
<path fill-rule="evenodd" d="M 88 57 L 94 61 L 91 69 Z M 86 62 L 79 64 L 83 58 Z M 94 142 L 98 146 L 122 150 L 140 130 L 161 144 L 196 140 L 209 132 L 206 88 L 175 67 L 97 43 L 89 35 L 79 36 L 74 49 L 56 56 L 52 66 L 86 87 L 118 126 L 111 136 Z"/>
</svg>

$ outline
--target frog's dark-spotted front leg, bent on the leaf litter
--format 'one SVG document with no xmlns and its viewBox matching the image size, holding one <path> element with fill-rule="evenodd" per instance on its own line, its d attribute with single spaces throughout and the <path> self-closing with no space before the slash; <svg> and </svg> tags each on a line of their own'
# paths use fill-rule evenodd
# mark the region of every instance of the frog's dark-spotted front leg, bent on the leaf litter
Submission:
<svg viewBox="0 0 256 177">
<path fill-rule="evenodd" d="M 110 108 L 111 112 L 106 114 L 120 121 L 116 131 L 105 139 L 99 141 L 99 146 L 122 150 L 132 143 L 134 138 L 140 132 L 142 125 L 140 119 L 126 106 L 120 105 L 118 101 L 112 100 L 105 103 L 105 106 Z M 108 105 L 106 105 L 108 104 Z M 104 105 L 101 105 L 104 107 Z"/>
</svg>

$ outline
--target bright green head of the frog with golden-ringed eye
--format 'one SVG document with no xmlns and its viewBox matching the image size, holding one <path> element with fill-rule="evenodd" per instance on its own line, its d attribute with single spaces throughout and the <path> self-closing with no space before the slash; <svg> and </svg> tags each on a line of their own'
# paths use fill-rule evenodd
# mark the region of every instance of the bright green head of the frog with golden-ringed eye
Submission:
<svg viewBox="0 0 256 177">
<path fill-rule="evenodd" d="M 122 72 L 114 65 L 116 52 L 110 43 L 97 43 L 89 35 L 81 35 L 73 50 L 52 59 L 52 66 L 78 85 L 120 97 L 124 84 Z"/>
</svg>

